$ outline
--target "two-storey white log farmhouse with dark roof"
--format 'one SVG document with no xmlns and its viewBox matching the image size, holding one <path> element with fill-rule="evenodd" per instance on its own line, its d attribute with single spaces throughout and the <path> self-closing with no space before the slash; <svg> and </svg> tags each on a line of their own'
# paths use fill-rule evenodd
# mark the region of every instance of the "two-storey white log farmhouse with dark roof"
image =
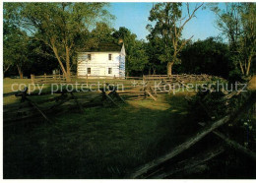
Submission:
<svg viewBox="0 0 256 183">
<path fill-rule="evenodd" d="M 100 43 L 78 52 L 78 77 L 125 77 L 124 44 Z"/>
</svg>

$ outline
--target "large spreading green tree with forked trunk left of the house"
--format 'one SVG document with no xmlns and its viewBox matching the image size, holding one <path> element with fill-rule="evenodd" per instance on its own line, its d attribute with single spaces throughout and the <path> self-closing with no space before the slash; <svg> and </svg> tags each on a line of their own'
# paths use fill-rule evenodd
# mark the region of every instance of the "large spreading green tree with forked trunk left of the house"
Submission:
<svg viewBox="0 0 256 183">
<path fill-rule="evenodd" d="M 97 21 L 112 16 L 105 3 L 5 3 L 4 19 L 30 31 L 34 38 L 48 45 L 70 82 L 71 56 L 77 42 L 87 37 Z"/>
</svg>

